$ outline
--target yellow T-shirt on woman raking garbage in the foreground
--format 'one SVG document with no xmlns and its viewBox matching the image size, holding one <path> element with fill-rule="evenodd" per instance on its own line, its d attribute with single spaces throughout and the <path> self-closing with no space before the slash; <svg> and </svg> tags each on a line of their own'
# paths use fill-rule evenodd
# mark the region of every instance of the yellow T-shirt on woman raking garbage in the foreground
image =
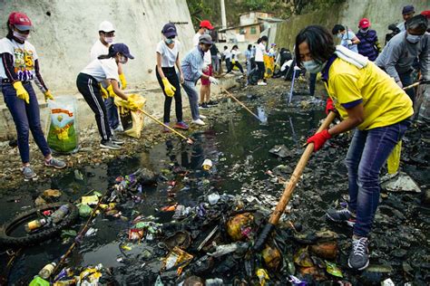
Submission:
<svg viewBox="0 0 430 286">
<path fill-rule="evenodd" d="M 363 100 L 365 120 L 357 129 L 393 125 L 414 114 L 406 92 L 373 62 L 358 69 L 337 58 L 329 67 L 327 83 L 328 95 L 342 119 L 347 119 L 348 103 Z"/>
</svg>

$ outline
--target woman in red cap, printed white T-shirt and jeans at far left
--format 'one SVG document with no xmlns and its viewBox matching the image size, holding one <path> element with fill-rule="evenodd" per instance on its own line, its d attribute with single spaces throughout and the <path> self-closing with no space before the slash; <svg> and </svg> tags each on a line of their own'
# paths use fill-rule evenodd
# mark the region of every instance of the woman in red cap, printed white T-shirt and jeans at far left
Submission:
<svg viewBox="0 0 430 286">
<path fill-rule="evenodd" d="M 24 13 L 13 12 L 7 20 L 7 35 L 0 40 L 0 79 L 7 109 L 15 122 L 19 155 L 22 162 L 24 180 L 35 179 L 30 166 L 29 130 L 34 142 L 44 155 L 44 166 L 64 168 L 64 161 L 51 155 L 51 149 L 44 138 L 40 124 L 39 103 L 32 86 L 35 81 L 44 100 L 54 100 L 40 74 L 39 59 L 34 45 L 27 42 L 32 22 Z"/>
</svg>

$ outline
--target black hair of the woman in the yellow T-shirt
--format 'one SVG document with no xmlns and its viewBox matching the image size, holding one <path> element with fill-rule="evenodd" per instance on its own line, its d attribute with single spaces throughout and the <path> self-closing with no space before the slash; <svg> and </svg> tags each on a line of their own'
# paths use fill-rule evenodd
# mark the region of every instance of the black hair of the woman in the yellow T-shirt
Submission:
<svg viewBox="0 0 430 286">
<path fill-rule="evenodd" d="M 317 62 L 327 62 L 336 51 L 333 36 L 328 30 L 320 25 L 310 25 L 301 30 L 296 36 L 295 52 L 298 65 L 301 62 L 298 46 L 303 42 L 308 43 L 310 55 Z"/>
</svg>

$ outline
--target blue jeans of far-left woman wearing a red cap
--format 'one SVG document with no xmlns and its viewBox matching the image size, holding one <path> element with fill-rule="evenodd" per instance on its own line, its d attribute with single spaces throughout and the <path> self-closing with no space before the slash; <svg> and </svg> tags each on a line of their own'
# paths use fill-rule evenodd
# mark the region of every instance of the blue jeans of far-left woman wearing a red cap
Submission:
<svg viewBox="0 0 430 286">
<path fill-rule="evenodd" d="M 2 85 L 2 92 L 5 98 L 5 104 L 12 114 L 15 122 L 16 135 L 18 139 L 19 155 L 23 163 L 30 162 L 30 147 L 28 146 L 29 130 L 32 131 L 34 142 L 42 151 L 44 157 L 51 154 L 51 149 L 44 138 L 44 131 L 40 125 L 39 103 L 35 96 L 33 86 L 30 82 L 23 84 L 25 91 L 30 96 L 30 103 L 26 104 L 24 100 L 16 97 L 16 91 L 12 84 L 5 83 Z"/>
</svg>

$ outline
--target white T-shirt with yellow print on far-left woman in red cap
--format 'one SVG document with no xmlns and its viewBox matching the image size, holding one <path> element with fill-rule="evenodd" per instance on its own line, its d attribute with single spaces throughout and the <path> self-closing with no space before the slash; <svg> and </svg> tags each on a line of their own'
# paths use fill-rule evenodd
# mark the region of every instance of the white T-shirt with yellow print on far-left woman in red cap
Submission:
<svg viewBox="0 0 430 286">
<path fill-rule="evenodd" d="M 12 54 L 15 73 L 20 81 L 33 81 L 35 79 L 34 62 L 38 57 L 33 44 L 27 41 L 17 43 L 15 40 L 3 38 L 0 40 L 0 53 L 5 52 Z M 7 79 L 3 61 L 0 61 L 0 79 Z"/>
</svg>

